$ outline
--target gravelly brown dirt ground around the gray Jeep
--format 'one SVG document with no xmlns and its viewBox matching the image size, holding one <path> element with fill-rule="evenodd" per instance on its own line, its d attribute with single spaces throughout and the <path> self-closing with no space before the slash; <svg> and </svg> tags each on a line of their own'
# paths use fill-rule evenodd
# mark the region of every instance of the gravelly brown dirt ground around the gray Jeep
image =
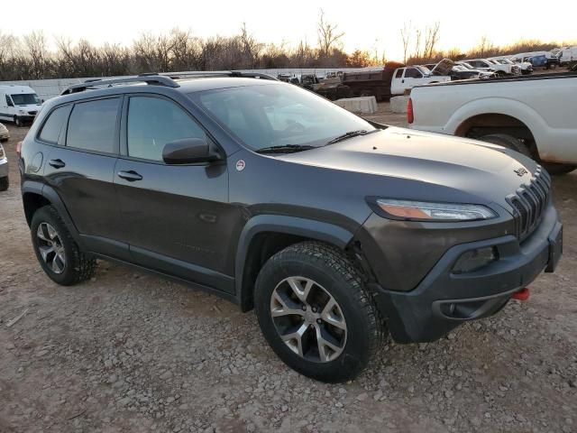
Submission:
<svg viewBox="0 0 577 433">
<path fill-rule="evenodd" d="M 383 123 L 403 124 L 403 115 Z M 0 193 L 0 432 L 577 431 L 577 172 L 554 179 L 564 257 L 526 302 L 434 344 L 390 343 L 357 380 L 282 364 L 252 313 L 123 266 L 59 287 L 12 185 Z M 14 319 L 18 319 L 14 323 Z"/>
</svg>

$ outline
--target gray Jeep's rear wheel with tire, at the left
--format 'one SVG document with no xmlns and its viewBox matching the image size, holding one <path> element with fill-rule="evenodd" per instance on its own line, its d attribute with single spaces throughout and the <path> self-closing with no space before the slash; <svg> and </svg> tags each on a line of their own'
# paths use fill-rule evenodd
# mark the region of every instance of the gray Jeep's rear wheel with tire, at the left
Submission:
<svg viewBox="0 0 577 433">
<path fill-rule="evenodd" d="M 50 280 L 71 286 L 94 275 L 96 260 L 82 253 L 54 207 L 38 209 L 30 228 L 34 253 Z"/>
</svg>

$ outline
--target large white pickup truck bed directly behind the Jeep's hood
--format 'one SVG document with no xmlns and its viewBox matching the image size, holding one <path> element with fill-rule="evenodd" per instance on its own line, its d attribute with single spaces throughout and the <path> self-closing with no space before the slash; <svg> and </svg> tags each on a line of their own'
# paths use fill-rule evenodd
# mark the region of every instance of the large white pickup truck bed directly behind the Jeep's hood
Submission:
<svg viewBox="0 0 577 433">
<path fill-rule="evenodd" d="M 577 74 L 455 81 L 413 88 L 410 128 L 497 143 L 552 174 L 577 168 Z"/>
</svg>

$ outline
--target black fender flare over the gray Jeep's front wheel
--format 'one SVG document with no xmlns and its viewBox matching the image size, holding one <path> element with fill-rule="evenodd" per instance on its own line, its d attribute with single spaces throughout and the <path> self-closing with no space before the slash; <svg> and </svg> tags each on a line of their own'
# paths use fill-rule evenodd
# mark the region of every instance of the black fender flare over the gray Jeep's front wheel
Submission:
<svg viewBox="0 0 577 433">
<path fill-rule="evenodd" d="M 247 301 L 247 293 L 244 290 L 246 288 L 243 288 L 244 263 L 246 262 L 252 239 L 254 236 L 264 232 L 298 235 L 334 244 L 341 249 L 344 249 L 353 239 L 353 233 L 350 230 L 314 219 L 280 215 L 252 217 L 243 227 L 234 261 L 235 296 L 243 309 L 245 309 Z"/>
</svg>

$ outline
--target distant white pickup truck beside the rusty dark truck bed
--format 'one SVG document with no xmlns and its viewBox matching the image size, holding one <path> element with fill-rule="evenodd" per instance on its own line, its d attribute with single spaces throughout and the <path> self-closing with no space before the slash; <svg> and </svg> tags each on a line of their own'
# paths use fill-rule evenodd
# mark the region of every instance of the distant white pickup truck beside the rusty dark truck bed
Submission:
<svg viewBox="0 0 577 433">
<path fill-rule="evenodd" d="M 403 95 L 406 90 L 421 84 L 451 81 L 450 72 L 453 66 L 453 60 L 444 59 L 439 61 L 433 69 L 427 69 L 425 66 L 398 68 L 395 70 L 390 82 L 390 93 L 392 95 Z"/>
</svg>

